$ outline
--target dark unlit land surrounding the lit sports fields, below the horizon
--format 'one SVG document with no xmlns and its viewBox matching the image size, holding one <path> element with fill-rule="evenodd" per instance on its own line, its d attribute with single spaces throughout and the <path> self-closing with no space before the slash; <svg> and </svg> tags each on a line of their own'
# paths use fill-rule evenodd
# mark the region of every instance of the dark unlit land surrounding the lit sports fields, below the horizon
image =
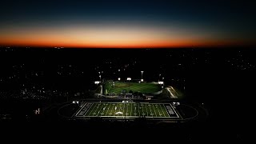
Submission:
<svg viewBox="0 0 256 144">
<path fill-rule="evenodd" d="M 14 116 L 14 120 L 0 122 L 1 138 L 8 141 L 20 139 L 24 142 L 31 141 L 32 138 L 36 138 L 34 142 L 54 138 L 59 142 L 69 139 L 72 142 L 143 143 L 174 140 L 239 142 L 247 139 L 246 133 L 253 126 L 251 119 L 254 116 L 256 50 L 230 48 L 128 51 L 1 49 L 1 112 Z M 97 55 L 97 58 L 90 58 L 90 55 Z M 166 84 L 184 91 L 185 101 L 203 103 L 209 111 L 208 118 L 154 125 L 143 119 L 133 123 L 100 122 L 98 119 L 78 122 L 56 120 L 58 116 L 54 112 L 47 119 L 33 115 L 33 110 L 43 106 L 42 103 L 49 105 L 50 111 L 56 112 L 58 104 L 68 100 L 68 97 L 59 98 L 56 94 L 68 95 L 77 91 L 90 94 L 88 90 L 94 88 L 91 84 L 98 80 L 99 69 L 110 70 L 110 62 L 115 62 L 111 66 L 117 70 L 120 66 L 126 67 L 128 72 L 123 74 L 132 74 L 134 78 L 141 77 L 142 68 L 145 71 L 143 77 L 148 78 L 148 81 L 158 81 L 158 74 L 161 73 Z M 102 78 L 113 77 L 113 71 L 103 74 Z M 44 87 L 46 93 L 42 94 L 42 99 L 46 103 L 38 100 L 32 102 L 28 94 L 23 95 L 25 99 L 19 97 L 25 89 L 30 90 L 31 95 L 33 86 L 38 90 Z M 56 90 L 58 92 L 51 93 Z M 58 99 L 62 101 L 58 102 Z"/>
</svg>

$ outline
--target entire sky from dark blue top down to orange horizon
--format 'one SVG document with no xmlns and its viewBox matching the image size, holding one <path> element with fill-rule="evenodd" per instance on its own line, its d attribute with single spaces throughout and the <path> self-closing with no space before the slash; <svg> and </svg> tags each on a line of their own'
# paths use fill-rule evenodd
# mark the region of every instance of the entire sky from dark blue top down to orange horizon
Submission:
<svg viewBox="0 0 256 144">
<path fill-rule="evenodd" d="M 86 0 L 0 5 L 0 46 L 255 46 L 253 2 Z"/>
</svg>

